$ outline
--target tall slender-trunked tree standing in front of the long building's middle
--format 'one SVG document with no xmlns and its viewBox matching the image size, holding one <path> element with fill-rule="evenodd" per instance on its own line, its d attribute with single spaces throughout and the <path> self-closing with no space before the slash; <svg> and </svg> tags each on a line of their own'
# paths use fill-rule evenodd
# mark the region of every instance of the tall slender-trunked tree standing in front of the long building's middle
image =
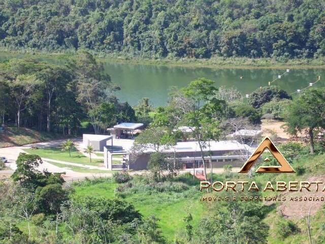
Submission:
<svg viewBox="0 0 325 244">
<path fill-rule="evenodd" d="M 174 107 L 174 116 L 179 125 L 191 128 L 194 138 L 197 139 L 207 179 L 204 147 L 207 142 L 218 137 L 218 119 L 224 116 L 226 104 L 215 98 L 217 88 L 214 81 L 199 78 L 188 86 L 171 94 L 170 106 Z M 212 162 L 211 162 L 212 165 Z"/>
</svg>

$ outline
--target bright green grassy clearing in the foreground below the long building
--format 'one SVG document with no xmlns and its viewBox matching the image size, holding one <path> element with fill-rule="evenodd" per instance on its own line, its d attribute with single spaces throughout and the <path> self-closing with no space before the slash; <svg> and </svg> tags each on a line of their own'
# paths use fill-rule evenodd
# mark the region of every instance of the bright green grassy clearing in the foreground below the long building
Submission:
<svg viewBox="0 0 325 244">
<path fill-rule="evenodd" d="M 187 176 L 192 178 L 192 176 Z M 110 178 L 103 178 L 103 182 L 89 180 L 89 184 L 75 185 L 75 193 L 79 196 L 105 196 L 119 197 L 115 189 L 120 186 Z M 196 226 L 200 219 L 208 214 L 208 210 L 200 202 L 199 181 L 189 190 L 181 193 L 170 192 L 139 192 L 123 195 L 124 200 L 132 203 L 144 216 L 154 215 L 160 218 L 159 226 L 163 235 L 172 241 L 185 228 L 184 217 L 191 213 L 193 225 Z"/>
</svg>

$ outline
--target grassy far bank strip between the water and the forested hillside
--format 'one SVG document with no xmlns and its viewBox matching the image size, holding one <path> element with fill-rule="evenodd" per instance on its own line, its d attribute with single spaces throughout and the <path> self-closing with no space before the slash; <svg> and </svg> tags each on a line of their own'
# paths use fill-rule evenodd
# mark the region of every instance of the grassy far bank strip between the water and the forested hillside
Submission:
<svg viewBox="0 0 325 244">
<path fill-rule="evenodd" d="M 205 68 L 232 68 L 232 69 L 325 69 L 325 57 L 323 58 L 248 58 L 248 57 L 211 57 L 211 58 L 143 58 L 135 57 L 125 53 L 104 53 L 88 50 L 99 59 L 105 59 L 108 62 L 128 63 L 139 65 L 156 66 L 180 66 L 180 67 L 205 67 Z M 64 50 L 61 52 L 48 52 L 33 49 L 10 50 L 0 48 L 0 54 L 3 56 L 27 56 L 44 58 L 64 58 L 72 56 L 76 50 Z"/>
</svg>

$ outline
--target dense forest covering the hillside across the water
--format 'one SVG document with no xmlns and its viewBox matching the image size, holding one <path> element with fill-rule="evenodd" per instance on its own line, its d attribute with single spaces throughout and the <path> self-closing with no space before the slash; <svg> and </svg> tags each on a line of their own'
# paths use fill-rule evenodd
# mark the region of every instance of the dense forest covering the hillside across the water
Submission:
<svg viewBox="0 0 325 244">
<path fill-rule="evenodd" d="M 0 1 L 0 44 L 139 57 L 320 57 L 323 0 Z"/>
</svg>

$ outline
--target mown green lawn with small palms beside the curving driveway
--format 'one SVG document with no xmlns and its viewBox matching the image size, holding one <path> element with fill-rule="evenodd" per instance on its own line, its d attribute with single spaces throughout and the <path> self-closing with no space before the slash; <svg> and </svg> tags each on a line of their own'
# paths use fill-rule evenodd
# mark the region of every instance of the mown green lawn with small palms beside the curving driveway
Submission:
<svg viewBox="0 0 325 244">
<path fill-rule="evenodd" d="M 70 163 L 87 164 L 94 166 L 102 166 L 104 163 L 104 159 L 92 159 L 90 163 L 89 158 L 79 153 L 76 148 L 71 151 L 71 157 L 69 156 L 69 151 L 62 151 L 60 147 L 47 147 L 24 150 L 29 154 L 37 154 L 41 158 L 66 161 Z"/>
</svg>

